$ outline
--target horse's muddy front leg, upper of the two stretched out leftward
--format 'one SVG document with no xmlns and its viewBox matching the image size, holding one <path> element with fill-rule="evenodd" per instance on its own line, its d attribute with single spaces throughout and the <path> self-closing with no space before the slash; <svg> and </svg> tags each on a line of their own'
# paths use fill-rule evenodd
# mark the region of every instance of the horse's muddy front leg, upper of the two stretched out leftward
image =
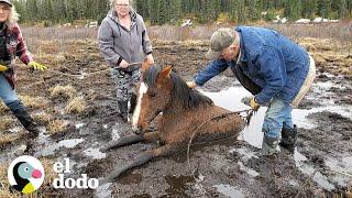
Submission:
<svg viewBox="0 0 352 198">
<path fill-rule="evenodd" d="M 99 151 L 107 152 L 107 151 L 116 148 L 116 147 L 135 144 L 135 143 L 142 142 L 142 141 L 155 141 L 155 140 L 158 140 L 158 138 L 160 138 L 158 131 L 144 133 L 143 135 L 123 136 L 119 140 L 108 142 L 107 145 L 102 146 Z"/>
</svg>

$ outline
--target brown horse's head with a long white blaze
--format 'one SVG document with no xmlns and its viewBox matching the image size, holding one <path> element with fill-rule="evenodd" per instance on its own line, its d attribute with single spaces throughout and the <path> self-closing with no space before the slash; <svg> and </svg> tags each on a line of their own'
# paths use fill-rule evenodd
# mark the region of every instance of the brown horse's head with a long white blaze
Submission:
<svg viewBox="0 0 352 198">
<path fill-rule="evenodd" d="M 143 133 L 150 122 L 168 106 L 173 89 L 170 66 L 161 69 L 145 64 L 144 69 L 132 117 L 132 130 L 138 134 Z"/>
</svg>

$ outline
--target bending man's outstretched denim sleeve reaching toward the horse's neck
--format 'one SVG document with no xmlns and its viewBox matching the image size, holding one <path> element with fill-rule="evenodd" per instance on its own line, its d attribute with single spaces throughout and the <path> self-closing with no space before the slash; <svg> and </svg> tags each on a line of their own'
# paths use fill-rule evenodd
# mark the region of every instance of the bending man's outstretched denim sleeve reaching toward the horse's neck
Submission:
<svg viewBox="0 0 352 198">
<path fill-rule="evenodd" d="M 224 59 L 212 61 L 205 70 L 199 72 L 195 78 L 194 82 L 197 86 L 202 86 L 205 82 L 210 80 L 212 77 L 224 72 L 229 67 Z"/>
</svg>

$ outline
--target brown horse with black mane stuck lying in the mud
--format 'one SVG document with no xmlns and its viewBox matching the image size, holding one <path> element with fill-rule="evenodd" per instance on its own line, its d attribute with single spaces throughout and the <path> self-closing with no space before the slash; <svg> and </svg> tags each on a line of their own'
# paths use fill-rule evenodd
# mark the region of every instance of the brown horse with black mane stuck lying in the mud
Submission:
<svg viewBox="0 0 352 198">
<path fill-rule="evenodd" d="M 122 173 L 185 150 L 193 142 L 209 142 L 235 136 L 243 128 L 243 119 L 230 111 L 217 107 L 212 100 L 187 84 L 167 66 L 144 68 L 139 85 L 138 105 L 132 118 L 132 129 L 136 133 L 109 142 L 101 151 L 142 141 L 160 141 L 162 146 L 138 155 L 128 165 L 109 174 L 105 182 L 111 182 Z M 150 122 L 161 114 L 157 130 L 146 132 Z"/>
</svg>

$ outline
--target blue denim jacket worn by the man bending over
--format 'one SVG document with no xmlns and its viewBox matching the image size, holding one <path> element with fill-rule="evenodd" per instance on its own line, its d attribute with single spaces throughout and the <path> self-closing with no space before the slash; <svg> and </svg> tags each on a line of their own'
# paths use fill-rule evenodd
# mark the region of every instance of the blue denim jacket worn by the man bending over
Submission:
<svg viewBox="0 0 352 198">
<path fill-rule="evenodd" d="M 276 31 L 238 26 L 240 33 L 242 70 L 262 90 L 255 96 L 258 103 L 270 102 L 273 97 L 289 103 L 302 86 L 309 69 L 308 53 Z M 195 76 L 202 86 L 210 78 L 235 67 L 235 62 L 216 59 Z M 233 70 L 233 69 L 232 69 Z"/>
</svg>

